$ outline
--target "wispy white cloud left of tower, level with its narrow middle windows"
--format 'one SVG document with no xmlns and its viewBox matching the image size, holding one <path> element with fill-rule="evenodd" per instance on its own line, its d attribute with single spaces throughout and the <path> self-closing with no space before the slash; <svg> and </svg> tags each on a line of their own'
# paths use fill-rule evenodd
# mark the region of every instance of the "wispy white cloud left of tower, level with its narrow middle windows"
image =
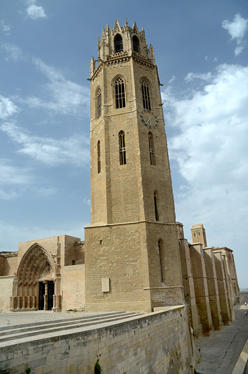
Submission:
<svg viewBox="0 0 248 374">
<path fill-rule="evenodd" d="M 89 163 L 89 139 L 83 134 L 73 134 L 66 139 L 38 137 L 31 135 L 13 122 L 2 124 L 0 130 L 19 145 L 18 153 L 45 165 L 71 163 L 82 166 Z"/>
</svg>

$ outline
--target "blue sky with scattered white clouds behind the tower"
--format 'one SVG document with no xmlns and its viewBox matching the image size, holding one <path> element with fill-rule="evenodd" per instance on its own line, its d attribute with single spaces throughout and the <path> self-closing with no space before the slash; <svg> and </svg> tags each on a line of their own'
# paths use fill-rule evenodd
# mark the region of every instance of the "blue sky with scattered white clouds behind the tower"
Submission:
<svg viewBox="0 0 248 374">
<path fill-rule="evenodd" d="M 234 250 L 248 287 L 247 0 L 0 0 L 0 251 L 84 238 L 89 62 L 116 17 L 155 50 L 176 219 Z"/>
</svg>

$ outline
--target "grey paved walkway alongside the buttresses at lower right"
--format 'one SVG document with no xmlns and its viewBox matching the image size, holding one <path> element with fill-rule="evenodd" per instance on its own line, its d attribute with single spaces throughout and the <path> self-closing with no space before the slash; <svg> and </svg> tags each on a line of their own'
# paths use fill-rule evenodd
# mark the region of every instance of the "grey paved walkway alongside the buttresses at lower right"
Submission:
<svg viewBox="0 0 248 374">
<path fill-rule="evenodd" d="M 221 331 L 214 331 L 211 337 L 204 337 L 196 344 L 201 349 L 202 361 L 197 364 L 199 374 L 232 374 L 239 356 L 248 340 L 248 295 L 234 306 L 236 320 Z"/>
</svg>

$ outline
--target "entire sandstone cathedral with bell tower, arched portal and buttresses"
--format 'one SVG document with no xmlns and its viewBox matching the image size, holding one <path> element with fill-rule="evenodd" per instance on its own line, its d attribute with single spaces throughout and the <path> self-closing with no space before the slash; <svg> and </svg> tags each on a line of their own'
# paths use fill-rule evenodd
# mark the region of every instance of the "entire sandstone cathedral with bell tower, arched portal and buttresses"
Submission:
<svg viewBox="0 0 248 374">
<path fill-rule="evenodd" d="M 91 223 L 0 252 L 0 310 L 150 313 L 189 305 L 195 335 L 234 319 L 233 251 L 176 222 L 160 81 L 145 32 L 102 30 L 90 61 Z"/>
</svg>

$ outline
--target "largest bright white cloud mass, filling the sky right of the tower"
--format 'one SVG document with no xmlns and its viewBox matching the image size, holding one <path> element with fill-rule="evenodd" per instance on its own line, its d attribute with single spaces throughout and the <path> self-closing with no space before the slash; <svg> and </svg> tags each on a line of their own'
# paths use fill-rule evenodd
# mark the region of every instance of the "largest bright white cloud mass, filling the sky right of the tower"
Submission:
<svg viewBox="0 0 248 374">
<path fill-rule="evenodd" d="M 162 93 L 167 123 L 178 131 L 170 159 L 184 178 L 174 190 L 176 213 L 184 224 L 204 223 L 217 238 L 209 245 L 239 246 L 248 205 L 248 66 L 220 65 L 211 77 L 185 100 L 170 87 Z"/>
</svg>

